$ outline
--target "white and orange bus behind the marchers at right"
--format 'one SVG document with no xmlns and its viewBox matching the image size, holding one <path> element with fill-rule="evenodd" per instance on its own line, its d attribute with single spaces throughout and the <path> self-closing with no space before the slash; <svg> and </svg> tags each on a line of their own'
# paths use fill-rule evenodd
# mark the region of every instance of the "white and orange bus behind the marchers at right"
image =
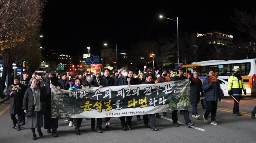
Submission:
<svg viewBox="0 0 256 143">
<path fill-rule="evenodd" d="M 244 83 L 248 84 L 252 92 L 256 90 L 253 89 L 253 82 L 255 80 L 256 74 L 256 59 L 244 59 L 244 60 L 209 60 L 192 62 L 191 65 L 183 65 L 184 71 L 189 73 L 192 70 L 198 72 L 198 76 L 201 80 L 204 80 L 207 76 L 207 70 L 211 69 L 214 74 L 219 78 L 229 78 L 232 75 L 232 69 L 240 68 L 240 74 L 243 78 Z M 188 76 L 188 74 L 186 75 Z"/>
</svg>

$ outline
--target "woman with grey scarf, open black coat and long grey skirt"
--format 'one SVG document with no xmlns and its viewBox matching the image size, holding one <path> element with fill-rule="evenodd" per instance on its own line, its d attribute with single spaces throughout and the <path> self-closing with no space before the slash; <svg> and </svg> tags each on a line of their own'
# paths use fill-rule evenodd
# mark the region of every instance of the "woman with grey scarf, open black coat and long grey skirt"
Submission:
<svg viewBox="0 0 256 143">
<path fill-rule="evenodd" d="M 36 140 L 35 128 L 37 128 L 38 135 L 43 136 L 41 130 L 43 126 L 43 94 L 35 78 L 30 80 L 29 85 L 31 86 L 25 92 L 22 109 L 26 113 L 26 128 L 32 130 L 32 139 Z"/>
</svg>

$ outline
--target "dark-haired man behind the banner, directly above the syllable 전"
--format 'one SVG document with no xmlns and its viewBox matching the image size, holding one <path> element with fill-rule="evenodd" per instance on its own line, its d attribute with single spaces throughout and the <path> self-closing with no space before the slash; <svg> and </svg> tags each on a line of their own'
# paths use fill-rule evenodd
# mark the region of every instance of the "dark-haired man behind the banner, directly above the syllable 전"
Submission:
<svg viewBox="0 0 256 143">
<path fill-rule="evenodd" d="M 142 84 L 154 84 L 155 82 L 153 81 L 154 75 L 152 73 L 146 74 L 146 80 Z M 155 127 L 155 122 L 156 122 L 156 114 L 149 114 L 150 117 L 150 130 L 151 131 L 157 131 L 158 128 Z M 148 115 L 143 115 L 143 122 L 145 124 L 145 128 L 148 128 Z"/>
</svg>

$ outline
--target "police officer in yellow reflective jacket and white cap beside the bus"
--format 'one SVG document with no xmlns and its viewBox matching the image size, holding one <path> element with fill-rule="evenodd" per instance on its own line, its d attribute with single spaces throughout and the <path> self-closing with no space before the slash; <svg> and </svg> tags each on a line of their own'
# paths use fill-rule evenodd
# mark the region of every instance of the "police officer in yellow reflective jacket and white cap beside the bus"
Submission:
<svg viewBox="0 0 256 143">
<path fill-rule="evenodd" d="M 239 102 L 242 98 L 242 90 L 244 90 L 244 94 L 246 95 L 246 90 L 244 87 L 243 78 L 240 76 L 239 68 L 235 68 L 232 70 L 234 72 L 234 75 L 231 75 L 229 78 L 229 91 L 227 92 L 230 96 L 233 96 L 238 103 L 234 99 L 234 108 L 233 108 L 233 114 L 236 114 L 237 116 L 241 116 L 241 113 L 239 112 Z"/>
</svg>

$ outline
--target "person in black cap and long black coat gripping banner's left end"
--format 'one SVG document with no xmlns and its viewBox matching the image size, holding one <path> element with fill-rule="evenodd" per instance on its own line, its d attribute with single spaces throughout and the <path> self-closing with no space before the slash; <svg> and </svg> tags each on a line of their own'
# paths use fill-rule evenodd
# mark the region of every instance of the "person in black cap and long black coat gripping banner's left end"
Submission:
<svg viewBox="0 0 256 143">
<path fill-rule="evenodd" d="M 50 82 L 51 81 L 51 82 Z M 57 128 L 59 123 L 59 118 L 52 118 L 52 92 L 51 92 L 51 83 L 52 85 L 56 86 L 57 89 L 63 89 L 62 85 L 58 82 L 58 78 L 56 77 L 55 72 L 49 72 L 48 78 L 45 80 L 44 86 L 44 102 L 46 105 L 46 113 L 44 114 L 44 129 L 47 129 L 47 133 L 51 133 L 52 129 L 52 136 L 57 136 Z"/>
</svg>

